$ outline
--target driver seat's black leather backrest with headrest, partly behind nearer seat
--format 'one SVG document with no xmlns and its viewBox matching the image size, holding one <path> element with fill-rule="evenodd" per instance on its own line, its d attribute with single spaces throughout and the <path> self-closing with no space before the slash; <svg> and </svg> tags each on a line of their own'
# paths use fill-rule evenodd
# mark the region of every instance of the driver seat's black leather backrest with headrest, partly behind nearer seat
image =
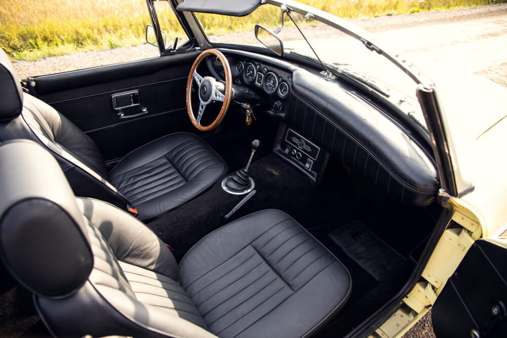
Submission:
<svg viewBox="0 0 507 338">
<path fill-rule="evenodd" d="M 7 54 L 0 49 L 0 142 L 29 139 L 58 160 L 78 196 L 90 196 L 124 207 L 127 199 L 107 181 L 107 169 L 95 143 L 53 107 L 23 93 Z"/>
</svg>

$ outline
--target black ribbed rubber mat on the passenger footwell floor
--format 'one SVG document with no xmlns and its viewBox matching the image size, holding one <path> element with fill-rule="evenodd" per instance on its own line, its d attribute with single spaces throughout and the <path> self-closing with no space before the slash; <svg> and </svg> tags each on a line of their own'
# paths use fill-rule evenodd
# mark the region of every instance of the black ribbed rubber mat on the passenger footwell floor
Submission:
<svg viewBox="0 0 507 338">
<path fill-rule="evenodd" d="M 402 255 L 358 221 L 345 224 L 330 233 L 329 237 L 379 282 L 405 262 Z"/>
</svg>

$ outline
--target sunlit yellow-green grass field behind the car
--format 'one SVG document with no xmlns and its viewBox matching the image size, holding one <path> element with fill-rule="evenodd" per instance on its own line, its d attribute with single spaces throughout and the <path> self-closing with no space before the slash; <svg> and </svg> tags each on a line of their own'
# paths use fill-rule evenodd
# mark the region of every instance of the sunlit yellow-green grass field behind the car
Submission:
<svg viewBox="0 0 507 338">
<path fill-rule="evenodd" d="M 503 3 L 507 0 L 302 0 L 343 18 L 373 17 L 429 10 L 445 10 Z M 167 4 L 161 7 L 159 20 L 168 39 L 182 36 Z M 259 12 L 259 13 L 257 13 Z M 263 11 L 242 20 L 239 26 L 231 17 L 201 15 L 208 33 L 251 29 L 266 23 Z M 275 15 L 276 14 L 276 15 Z M 275 13 L 270 21 L 279 20 Z M 251 22 L 250 22 L 251 21 Z M 276 24 L 274 22 L 273 24 Z M 46 56 L 81 51 L 134 46 L 144 42 L 144 30 L 150 24 L 143 0 L 0 0 L 0 47 L 15 60 L 37 60 Z"/>
</svg>

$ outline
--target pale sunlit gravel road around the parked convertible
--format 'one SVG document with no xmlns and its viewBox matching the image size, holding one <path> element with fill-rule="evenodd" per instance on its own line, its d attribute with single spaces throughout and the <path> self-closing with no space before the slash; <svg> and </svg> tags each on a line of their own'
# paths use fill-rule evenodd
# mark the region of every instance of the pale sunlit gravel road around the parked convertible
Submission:
<svg viewBox="0 0 507 338">
<path fill-rule="evenodd" d="M 353 20 L 436 77 L 467 72 L 507 87 L 507 4 Z M 244 34 L 235 34 L 238 40 Z M 149 45 L 18 61 L 21 78 L 158 56 Z M 430 73 L 430 76 L 432 74 Z M 438 84 L 438 81 L 437 81 Z M 430 313 L 404 338 L 434 337 Z"/>
</svg>

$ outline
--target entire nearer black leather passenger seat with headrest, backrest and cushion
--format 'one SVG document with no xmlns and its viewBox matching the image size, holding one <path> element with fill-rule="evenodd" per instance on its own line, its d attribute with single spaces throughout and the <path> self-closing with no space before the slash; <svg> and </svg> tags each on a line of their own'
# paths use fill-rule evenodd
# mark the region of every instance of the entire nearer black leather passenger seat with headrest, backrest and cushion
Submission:
<svg viewBox="0 0 507 338">
<path fill-rule="evenodd" d="M 0 146 L 0 186 L 0 254 L 56 336 L 306 336 L 350 293 L 347 269 L 281 211 L 212 232 L 178 267 L 139 220 L 75 198 L 38 144 Z"/>
</svg>

